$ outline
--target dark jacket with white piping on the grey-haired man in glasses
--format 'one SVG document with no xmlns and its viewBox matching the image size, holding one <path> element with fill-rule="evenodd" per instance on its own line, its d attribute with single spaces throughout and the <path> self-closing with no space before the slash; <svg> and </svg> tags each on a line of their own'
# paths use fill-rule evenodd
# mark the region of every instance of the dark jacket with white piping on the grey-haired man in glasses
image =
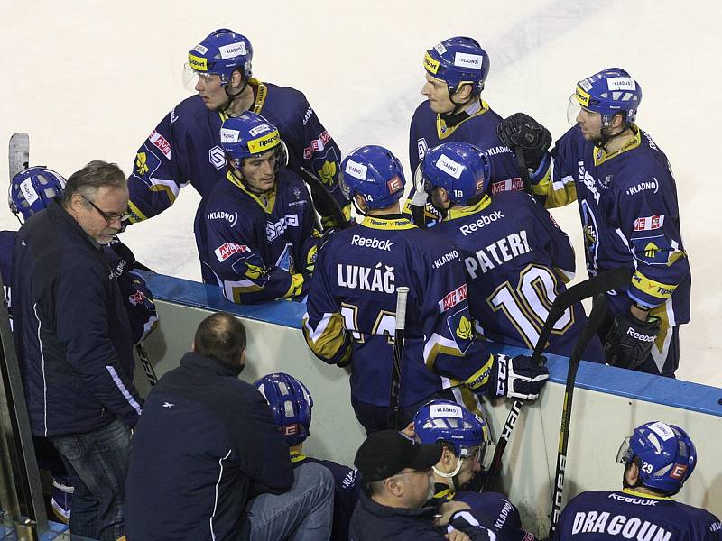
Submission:
<svg viewBox="0 0 722 541">
<path fill-rule="evenodd" d="M 134 426 L 142 399 L 116 277 L 102 247 L 59 200 L 20 228 L 12 275 L 14 340 L 32 433 L 85 433 L 116 417 Z"/>
</svg>

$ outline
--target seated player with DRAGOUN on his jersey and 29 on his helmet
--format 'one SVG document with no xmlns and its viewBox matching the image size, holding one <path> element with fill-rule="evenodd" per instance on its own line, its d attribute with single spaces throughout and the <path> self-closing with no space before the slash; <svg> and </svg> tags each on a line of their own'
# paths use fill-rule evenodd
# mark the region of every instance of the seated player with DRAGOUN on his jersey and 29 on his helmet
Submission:
<svg viewBox="0 0 722 541">
<path fill-rule="evenodd" d="M 555 539 L 722 539 L 719 518 L 671 499 L 697 464 L 695 446 L 680 426 L 637 426 L 622 442 L 616 460 L 625 464 L 624 489 L 582 492 L 569 501 Z"/>
</svg>

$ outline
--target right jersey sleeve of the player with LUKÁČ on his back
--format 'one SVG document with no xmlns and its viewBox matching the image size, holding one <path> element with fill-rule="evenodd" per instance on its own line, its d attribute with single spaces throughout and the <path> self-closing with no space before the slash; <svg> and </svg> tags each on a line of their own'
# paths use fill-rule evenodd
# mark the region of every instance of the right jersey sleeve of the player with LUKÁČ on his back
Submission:
<svg viewBox="0 0 722 541">
<path fill-rule="evenodd" d="M 442 265 L 424 261 L 419 275 L 417 287 L 424 291 L 419 307 L 425 337 L 423 360 L 430 371 L 482 392 L 488 387 L 495 358 L 474 332 L 464 269 L 455 252 L 451 246 Z"/>
</svg>

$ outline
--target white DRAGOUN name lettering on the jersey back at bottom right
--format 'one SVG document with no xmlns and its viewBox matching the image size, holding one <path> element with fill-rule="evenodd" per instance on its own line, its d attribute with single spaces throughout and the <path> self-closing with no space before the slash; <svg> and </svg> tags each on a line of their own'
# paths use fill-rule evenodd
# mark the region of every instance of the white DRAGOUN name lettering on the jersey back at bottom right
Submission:
<svg viewBox="0 0 722 541">
<path fill-rule="evenodd" d="M 641 518 L 626 517 L 622 514 L 613 515 L 608 512 L 579 511 L 574 515 L 571 535 L 588 533 L 596 536 L 606 534 L 612 538 L 636 538 L 638 541 L 643 539 L 669 541 L 673 534 L 673 532 Z"/>
</svg>

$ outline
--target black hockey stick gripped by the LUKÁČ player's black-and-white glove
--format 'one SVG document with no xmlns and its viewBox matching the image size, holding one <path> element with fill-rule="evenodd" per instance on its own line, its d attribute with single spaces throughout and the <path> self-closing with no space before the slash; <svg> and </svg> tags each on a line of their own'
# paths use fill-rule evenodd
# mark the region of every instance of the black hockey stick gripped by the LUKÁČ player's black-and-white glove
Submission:
<svg viewBox="0 0 722 541">
<path fill-rule="evenodd" d="M 549 335 L 551 335 L 551 328 L 564 314 L 564 311 L 567 310 L 567 308 L 581 302 L 585 298 L 595 297 L 605 291 L 609 291 L 611 289 L 624 289 L 629 284 L 629 279 L 629 271 L 624 267 L 619 267 L 617 269 L 613 269 L 612 271 L 605 271 L 601 274 L 597 274 L 597 276 L 581 281 L 578 284 L 571 286 L 566 291 L 562 291 L 551 303 L 549 315 L 547 316 L 546 321 L 544 321 L 542 332 L 539 334 L 539 339 L 534 346 L 532 361 L 538 364 L 542 360 L 542 352 L 544 347 L 546 347 Z M 582 353 L 584 353 L 584 350 L 582 350 Z M 491 486 L 496 476 L 501 472 L 502 456 L 504 455 L 506 445 L 508 445 L 509 440 L 512 437 L 512 431 L 514 430 L 514 426 L 516 426 L 516 419 L 522 411 L 523 404 L 522 400 L 514 400 L 512 409 L 506 417 L 502 434 L 499 436 L 499 441 L 496 442 L 494 458 L 492 459 L 491 466 L 489 466 L 489 472 L 481 491 L 486 491 L 486 489 Z"/>
</svg>

